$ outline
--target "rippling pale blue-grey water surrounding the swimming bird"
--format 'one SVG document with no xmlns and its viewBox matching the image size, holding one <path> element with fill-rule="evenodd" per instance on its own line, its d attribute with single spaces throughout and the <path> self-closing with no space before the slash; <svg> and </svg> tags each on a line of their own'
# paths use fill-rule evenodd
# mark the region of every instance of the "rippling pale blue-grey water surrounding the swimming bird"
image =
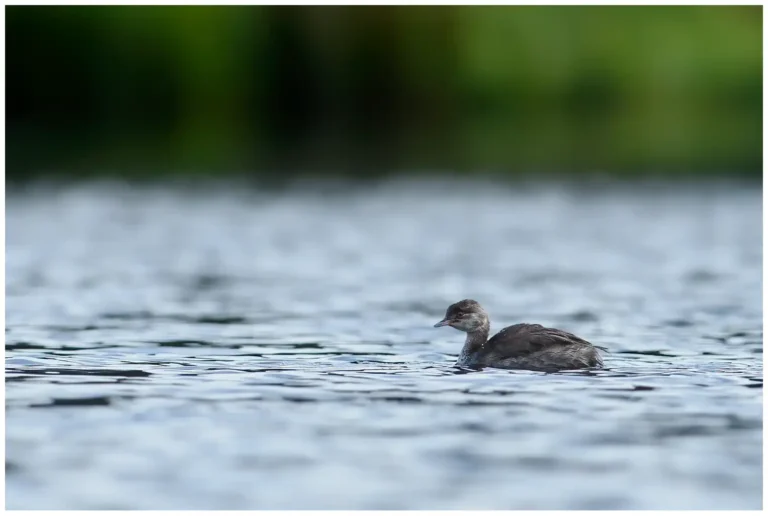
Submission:
<svg viewBox="0 0 768 516">
<path fill-rule="evenodd" d="M 12 509 L 758 509 L 758 185 L 7 199 Z M 453 367 L 481 301 L 606 369 Z"/>
</svg>

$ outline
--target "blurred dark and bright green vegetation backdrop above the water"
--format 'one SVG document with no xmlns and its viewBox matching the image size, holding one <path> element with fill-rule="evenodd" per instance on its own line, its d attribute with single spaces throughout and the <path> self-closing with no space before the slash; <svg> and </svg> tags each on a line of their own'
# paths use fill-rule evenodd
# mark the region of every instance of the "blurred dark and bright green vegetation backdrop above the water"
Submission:
<svg viewBox="0 0 768 516">
<path fill-rule="evenodd" d="M 6 7 L 8 178 L 740 174 L 762 7 Z"/>
</svg>

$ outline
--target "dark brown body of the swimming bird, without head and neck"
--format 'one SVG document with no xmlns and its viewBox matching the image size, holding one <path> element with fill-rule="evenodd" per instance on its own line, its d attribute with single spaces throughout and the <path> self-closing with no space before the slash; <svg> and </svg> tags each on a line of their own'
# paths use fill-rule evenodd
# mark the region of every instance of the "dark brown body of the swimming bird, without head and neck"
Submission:
<svg viewBox="0 0 768 516">
<path fill-rule="evenodd" d="M 601 367 L 597 348 L 586 340 L 540 324 L 507 326 L 472 357 L 479 366 L 552 371 Z"/>
</svg>

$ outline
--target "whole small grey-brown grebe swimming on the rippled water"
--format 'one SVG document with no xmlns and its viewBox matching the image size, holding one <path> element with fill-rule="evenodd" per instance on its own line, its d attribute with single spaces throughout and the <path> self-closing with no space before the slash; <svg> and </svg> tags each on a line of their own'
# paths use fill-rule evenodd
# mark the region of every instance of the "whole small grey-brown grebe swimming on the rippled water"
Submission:
<svg viewBox="0 0 768 516">
<path fill-rule="evenodd" d="M 507 326 L 488 339 L 490 320 L 477 301 L 464 299 L 448 307 L 438 326 L 467 333 L 457 365 L 559 371 L 602 367 L 598 348 L 586 340 L 540 324 Z M 601 348 L 602 349 L 602 348 Z"/>
</svg>

